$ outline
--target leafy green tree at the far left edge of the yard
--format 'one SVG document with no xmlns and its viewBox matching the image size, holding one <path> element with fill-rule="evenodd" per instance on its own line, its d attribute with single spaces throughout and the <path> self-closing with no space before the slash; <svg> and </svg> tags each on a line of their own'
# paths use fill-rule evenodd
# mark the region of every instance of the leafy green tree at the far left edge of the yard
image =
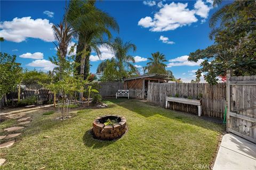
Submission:
<svg viewBox="0 0 256 170">
<path fill-rule="evenodd" d="M 22 73 L 20 63 L 15 55 L 0 52 L 0 97 L 14 91 Z"/>
</svg>

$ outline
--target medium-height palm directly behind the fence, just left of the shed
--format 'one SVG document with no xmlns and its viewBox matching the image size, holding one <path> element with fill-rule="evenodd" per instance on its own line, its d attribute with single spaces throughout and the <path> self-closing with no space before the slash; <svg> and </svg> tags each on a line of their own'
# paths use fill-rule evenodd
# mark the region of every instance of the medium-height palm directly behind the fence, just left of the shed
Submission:
<svg viewBox="0 0 256 170">
<path fill-rule="evenodd" d="M 115 57 L 111 58 L 111 60 L 105 60 L 100 63 L 97 68 L 97 72 L 103 72 L 107 66 L 107 62 L 114 61 L 116 63 L 116 69 L 120 73 L 119 81 L 127 76 L 127 71 L 130 71 L 131 73 L 137 73 L 137 68 L 132 64 L 135 63 L 135 59 L 133 56 L 128 54 L 130 51 L 135 52 L 137 47 L 130 42 L 124 43 L 123 40 L 119 37 L 114 39 L 112 47 L 115 53 Z"/>
</svg>

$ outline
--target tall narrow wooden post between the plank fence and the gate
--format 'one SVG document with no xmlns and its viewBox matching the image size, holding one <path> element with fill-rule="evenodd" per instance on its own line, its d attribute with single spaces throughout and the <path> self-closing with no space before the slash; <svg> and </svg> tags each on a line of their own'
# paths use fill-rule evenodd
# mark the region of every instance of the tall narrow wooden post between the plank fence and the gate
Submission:
<svg viewBox="0 0 256 170">
<path fill-rule="evenodd" d="M 227 82 L 226 82 L 226 106 L 227 106 L 227 114 L 226 114 L 226 122 L 227 122 L 227 125 L 226 125 L 226 130 L 227 130 L 227 133 L 230 133 L 229 132 L 229 125 L 230 125 L 230 119 L 229 119 L 229 111 L 230 111 L 230 70 L 227 70 Z"/>
</svg>

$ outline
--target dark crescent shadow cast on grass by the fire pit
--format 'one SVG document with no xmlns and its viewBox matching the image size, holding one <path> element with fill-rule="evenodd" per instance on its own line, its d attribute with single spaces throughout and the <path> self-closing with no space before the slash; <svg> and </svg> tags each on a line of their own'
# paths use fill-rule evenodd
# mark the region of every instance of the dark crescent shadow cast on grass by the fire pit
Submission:
<svg viewBox="0 0 256 170">
<path fill-rule="evenodd" d="M 102 148 L 102 147 L 106 147 L 108 145 L 111 145 L 112 143 L 114 143 L 117 140 L 98 140 L 98 139 L 94 139 L 91 129 L 87 130 L 84 133 L 83 136 L 83 141 L 84 141 L 84 145 L 86 145 L 87 147 L 92 147 L 93 149 L 98 149 L 98 148 Z"/>
</svg>

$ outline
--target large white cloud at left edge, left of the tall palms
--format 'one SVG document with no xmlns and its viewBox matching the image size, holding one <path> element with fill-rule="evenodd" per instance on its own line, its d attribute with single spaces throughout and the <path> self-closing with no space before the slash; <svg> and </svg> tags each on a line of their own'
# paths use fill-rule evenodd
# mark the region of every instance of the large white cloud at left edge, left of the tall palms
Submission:
<svg viewBox="0 0 256 170">
<path fill-rule="evenodd" d="M 39 38 L 47 42 L 54 41 L 52 23 L 46 19 L 31 19 L 31 16 L 14 18 L 0 24 L 0 37 L 20 43 L 26 38 Z"/>
</svg>

